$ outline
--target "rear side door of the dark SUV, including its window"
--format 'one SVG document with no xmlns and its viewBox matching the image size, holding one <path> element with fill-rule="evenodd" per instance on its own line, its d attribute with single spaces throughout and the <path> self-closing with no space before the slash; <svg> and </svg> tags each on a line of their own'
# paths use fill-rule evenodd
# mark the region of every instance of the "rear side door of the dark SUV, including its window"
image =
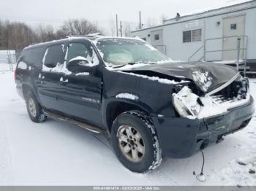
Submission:
<svg viewBox="0 0 256 191">
<path fill-rule="evenodd" d="M 59 95 L 63 89 L 59 87 L 61 77 L 64 76 L 64 44 L 54 44 L 45 50 L 42 59 L 42 71 L 38 76 L 39 101 L 47 109 L 61 111 Z"/>
</svg>

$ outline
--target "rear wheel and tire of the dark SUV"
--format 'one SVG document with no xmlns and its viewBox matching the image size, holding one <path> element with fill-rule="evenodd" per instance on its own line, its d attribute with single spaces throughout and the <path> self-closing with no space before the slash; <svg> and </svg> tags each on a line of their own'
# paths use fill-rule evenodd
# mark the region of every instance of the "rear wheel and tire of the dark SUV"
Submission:
<svg viewBox="0 0 256 191">
<path fill-rule="evenodd" d="M 32 92 L 26 95 L 26 109 L 33 122 L 44 122 L 47 119 L 47 116 L 42 112 L 42 107 L 38 103 L 36 96 Z"/>
</svg>

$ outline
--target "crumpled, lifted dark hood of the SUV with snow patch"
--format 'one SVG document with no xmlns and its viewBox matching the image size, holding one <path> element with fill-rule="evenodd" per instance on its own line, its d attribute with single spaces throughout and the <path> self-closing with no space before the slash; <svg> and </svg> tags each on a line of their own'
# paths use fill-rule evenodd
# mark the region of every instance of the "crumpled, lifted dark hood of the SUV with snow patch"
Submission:
<svg viewBox="0 0 256 191">
<path fill-rule="evenodd" d="M 231 66 L 211 62 L 150 64 L 124 71 L 154 71 L 170 77 L 189 79 L 205 93 L 216 89 L 237 73 Z"/>
</svg>

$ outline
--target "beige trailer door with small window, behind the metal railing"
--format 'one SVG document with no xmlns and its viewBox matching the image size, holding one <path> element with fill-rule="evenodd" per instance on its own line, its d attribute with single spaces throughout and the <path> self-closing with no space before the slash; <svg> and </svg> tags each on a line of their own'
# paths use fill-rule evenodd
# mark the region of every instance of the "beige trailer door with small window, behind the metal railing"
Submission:
<svg viewBox="0 0 256 191">
<path fill-rule="evenodd" d="M 223 51 L 222 60 L 237 59 L 237 37 L 228 38 L 228 36 L 243 36 L 245 27 L 244 15 L 236 17 L 227 17 L 223 19 Z M 241 49 L 244 48 L 244 38 L 241 38 Z M 228 51 L 227 51 L 228 50 Z M 240 52 L 240 58 L 244 58 L 244 50 Z"/>
</svg>

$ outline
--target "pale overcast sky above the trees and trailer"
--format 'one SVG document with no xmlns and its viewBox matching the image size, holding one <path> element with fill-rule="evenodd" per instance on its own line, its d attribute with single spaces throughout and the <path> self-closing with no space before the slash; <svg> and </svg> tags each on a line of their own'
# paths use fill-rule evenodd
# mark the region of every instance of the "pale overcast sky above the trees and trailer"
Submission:
<svg viewBox="0 0 256 191">
<path fill-rule="evenodd" d="M 20 20 L 37 26 L 39 23 L 51 24 L 58 28 L 63 20 L 86 18 L 97 21 L 99 26 L 110 33 L 110 20 L 116 14 L 123 21 L 138 24 L 141 11 L 142 23 L 157 23 L 162 15 L 175 17 L 176 12 L 186 15 L 197 10 L 227 6 L 248 0 L 2 0 L 0 18 Z"/>
</svg>

